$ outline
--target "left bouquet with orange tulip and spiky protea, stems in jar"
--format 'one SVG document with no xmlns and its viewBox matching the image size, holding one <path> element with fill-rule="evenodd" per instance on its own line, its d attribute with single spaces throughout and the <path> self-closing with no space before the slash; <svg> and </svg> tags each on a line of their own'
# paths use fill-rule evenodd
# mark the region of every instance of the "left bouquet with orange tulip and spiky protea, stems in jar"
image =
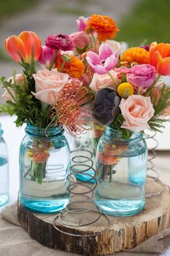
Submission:
<svg viewBox="0 0 170 256">
<path fill-rule="evenodd" d="M 6 104 L 0 106 L 0 111 L 15 114 L 17 127 L 27 123 L 45 128 L 47 138 L 49 127 L 64 126 L 73 137 L 86 132 L 86 123 L 91 121 L 87 103 L 93 95 L 84 85 L 83 61 L 73 56 L 71 37 L 49 35 L 42 46 L 35 33 L 24 31 L 6 38 L 5 48 L 23 72 L 14 73 L 8 80 L 1 77 Z M 45 178 L 49 151 L 54 148 L 52 141 L 39 137 L 27 150 L 29 174 L 39 184 Z"/>
</svg>

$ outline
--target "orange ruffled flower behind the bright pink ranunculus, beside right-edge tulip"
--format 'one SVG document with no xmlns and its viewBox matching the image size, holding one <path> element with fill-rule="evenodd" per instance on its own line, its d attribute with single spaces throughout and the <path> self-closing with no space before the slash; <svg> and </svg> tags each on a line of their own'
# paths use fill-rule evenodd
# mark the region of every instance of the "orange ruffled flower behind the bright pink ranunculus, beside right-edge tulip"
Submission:
<svg viewBox="0 0 170 256">
<path fill-rule="evenodd" d="M 128 67 L 131 64 L 149 64 L 149 53 L 140 47 L 128 48 L 120 57 L 120 61 L 122 65 Z"/>
</svg>

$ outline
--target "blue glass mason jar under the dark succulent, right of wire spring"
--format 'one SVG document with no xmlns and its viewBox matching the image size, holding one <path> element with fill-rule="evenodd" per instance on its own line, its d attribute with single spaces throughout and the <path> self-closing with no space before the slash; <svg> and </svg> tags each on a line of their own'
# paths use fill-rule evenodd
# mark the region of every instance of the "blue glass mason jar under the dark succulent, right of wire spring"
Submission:
<svg viewBox="0 0 170 256">
<path fill-rule="evenodd" d="M 140 132 L 125 140 L 107 126 L 97 146 L 96 205 L 112 216 L 132 216 L 145 205 L 148 150 Z"/>
</svg>

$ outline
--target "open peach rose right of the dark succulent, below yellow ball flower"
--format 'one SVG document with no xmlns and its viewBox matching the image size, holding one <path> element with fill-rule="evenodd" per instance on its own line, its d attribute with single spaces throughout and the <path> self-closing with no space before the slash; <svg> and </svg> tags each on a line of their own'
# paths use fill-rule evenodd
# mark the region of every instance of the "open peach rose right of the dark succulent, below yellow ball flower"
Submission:
<svg viewBox="0 0 170 256">
<path fill-rule="evenodd" d="M 150 129 L 148 121 L 155 111 L 150 97 L 130 95 L 126 100 L 122 98 L 120 110 L 125 119 L 122 128 L 130 129 L 133 132 Z"/>
</svg>

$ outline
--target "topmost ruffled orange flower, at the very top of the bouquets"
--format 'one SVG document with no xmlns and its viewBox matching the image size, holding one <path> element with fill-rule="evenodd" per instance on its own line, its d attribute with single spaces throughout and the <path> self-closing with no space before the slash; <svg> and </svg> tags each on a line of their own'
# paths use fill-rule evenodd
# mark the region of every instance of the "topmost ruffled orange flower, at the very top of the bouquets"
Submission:
<svg viewBox="0 0 170 256">
<path fill-rule="evenodd" d="M 98 33 L 98 40 L 105 41 L 110 38 L 115 38 L 119 31 L 115 21 L 108 16 L 93 14 L 87 20 L 86 31 L 94 30 Z"/>
</svg>

